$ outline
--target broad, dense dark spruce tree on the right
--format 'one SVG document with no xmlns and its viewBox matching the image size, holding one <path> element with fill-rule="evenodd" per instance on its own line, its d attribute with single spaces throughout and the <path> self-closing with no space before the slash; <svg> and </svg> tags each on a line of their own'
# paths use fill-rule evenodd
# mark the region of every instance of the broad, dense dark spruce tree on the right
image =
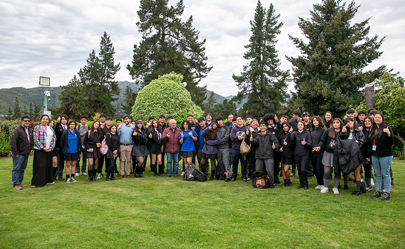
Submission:
<svg viewBox="0 0 405 249">
<path fill-rule="evenodd" d="M 370 18 L 352 23 L 358 8 L 354 1 L 346 8 L 341 0 L 322 0 L 313 5 L 310 20 L 299 18 L 298 25 L 309 42 L 290 36 L 301 55 L 287 59 L 294 66 L 297 90 L 291 103 L 301 110 L 311 114 L 332 111 L 340 117 L 361 101 L 359 89 L 386 71 L 385 66 L 365 70 L 382 54 L 378 49 L 385 37 L 368 37 Z"/>
</svg>

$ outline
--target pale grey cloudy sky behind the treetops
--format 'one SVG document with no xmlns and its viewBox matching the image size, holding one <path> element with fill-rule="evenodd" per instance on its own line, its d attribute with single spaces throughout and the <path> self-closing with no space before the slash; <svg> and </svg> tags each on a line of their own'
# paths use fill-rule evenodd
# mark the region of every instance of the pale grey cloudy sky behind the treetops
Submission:
<svg viewBox="0 0 405 249">
<path fill-rule="evenodd" d="M 170 0 L 174 5 L 178 1 Z M 267 8 L 273 3 L 279 21 L 284 23 L 277 37 L 281 69 L 291 69 L 285 56 L 296 57 L 298 48 L 288 35 L 302 37 L 298 17 L 309 18 L 314 0 L 262 1 Z M 380 65 L 405 75 L 405 6 L 403 1 L 362 0 L 354 21 L 368 17 L 370 36 L 386 36 L 381 46 L 383 55 L 368 69 Z M 208 65 L 213 69 L 201 80 L 201 85 L 223 96 L 234 95 L 238 89 L 232 74 L 240 74 L 247 63 L 243 58 L 251 35 L 249 21 L 253 19 L 257 1 L 251 0 L 184 0 L 183 20 L 190 15 L 200 39 L 206 38 Z M 36 87 L 39 76 L 51 78 L 51 85 L 65 85 L 86 64 L 92 49 L 98 53 L 104 31 L 115 48 L 115 62 L 121 64 L 118 81 L 130 81 L 126 66 L 131 63 L 134 44 L 141 34 L 136 22 L 139 1 L 55 0 L 0 1 L 0 88 Z M 293 83 L 290 90 L 294 89 Z"/>
</svg>

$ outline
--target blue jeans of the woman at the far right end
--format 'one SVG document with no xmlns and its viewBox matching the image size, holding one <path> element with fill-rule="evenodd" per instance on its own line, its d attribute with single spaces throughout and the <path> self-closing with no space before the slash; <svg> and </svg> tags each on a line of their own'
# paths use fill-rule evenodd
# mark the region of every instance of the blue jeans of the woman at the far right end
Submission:
<svg viewBox="0 0 405 249">
<path fill-rule="evenodd" d="M 391 168 L 392 158 L 393 156 L 371 156 L 371 162 L 373 163 L 374 171 L 376 172 L 376 191 L 381 192 L 381 176 L 384 178 L 385 192 L 389 193 L 391 189 L 391 176 L 389 175 L 389 169 Z"/>
</svg>

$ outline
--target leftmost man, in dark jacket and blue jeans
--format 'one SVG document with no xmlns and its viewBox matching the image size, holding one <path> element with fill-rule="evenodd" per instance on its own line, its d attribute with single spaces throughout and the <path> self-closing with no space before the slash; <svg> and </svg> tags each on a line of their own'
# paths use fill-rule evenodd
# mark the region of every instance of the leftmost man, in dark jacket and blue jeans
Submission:
<svg viewBox="0 0 405 249">
<path fill-rule="evenodd" d="M 15 190 L 21 190 L 27 187 L 22 184 L 24 171 L 27 167 L 28 156 L 31 151 L 32 130 L 29 127 L 29 116 L 21 117 L 21 125 L 14 128 L 11 132 L 10 147 L 11 157 L 13 158 L 13 170 L 11 180 Z"/>
</svg>

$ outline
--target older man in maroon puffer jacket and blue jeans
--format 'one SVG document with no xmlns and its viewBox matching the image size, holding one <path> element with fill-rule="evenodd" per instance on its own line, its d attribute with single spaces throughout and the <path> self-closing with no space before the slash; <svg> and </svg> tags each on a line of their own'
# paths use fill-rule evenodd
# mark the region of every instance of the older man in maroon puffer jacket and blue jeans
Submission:
<svg viewBox="0 0 405 249">
<path fill-rule="evenodd" d="M 166 157 L 168 160 L 167 170 L 168 175 L 166 177 L 172 176 L 172 162 L 173 162 L 173 175 L 175 178 L 178 177 L 177 171 L 179 169 L 179 153 L 180 153 L 180 128 L 176 126 L 177 122 L 175 119 L 170 120 L 170 127 L 166 128 L 161 134 L 161 139 L 166 141 Z"/>
</svg>

